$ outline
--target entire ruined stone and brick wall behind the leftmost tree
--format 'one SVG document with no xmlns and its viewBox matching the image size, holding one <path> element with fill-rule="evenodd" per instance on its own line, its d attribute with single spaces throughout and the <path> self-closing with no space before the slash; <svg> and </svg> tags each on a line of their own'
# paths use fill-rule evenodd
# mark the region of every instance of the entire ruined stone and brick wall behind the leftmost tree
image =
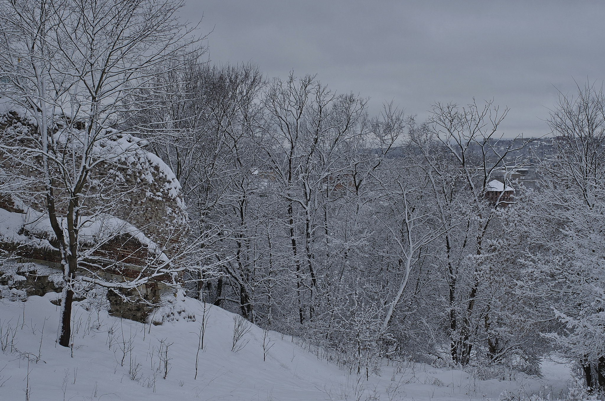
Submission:
<svg viewBox="0 0 605 401">
<path fill-rule="evenodd" d="M 33 141 L 39 136 L 35 124 L 22 118 L 18 113 L 10 112 L 0 115 L 0 141 L 2 143 L 27 149 L 33 147 Z M 108 146 L 113 145 L 112 141 L 118 144 L 120 140 L 126 139 L 128 138 L 115 135 L 115 139 L 109 138 Z M 27 155 L 27 152 L 19 151 L 13 154 L 0 152 L 0 168 L 11 174 L 11 179 L 21 176 L 18 178 L 19 187 L 16 191 L 0 193 L 0 208 L 11 213 L 25 213 L 27 208 L 44 213 L 47 199 L 45 198 L 46 187 L 41 167 L 41 156 Z M 67 199 L 60 170 L 54 168 L 51 170 L 51 175 L 56 177 L 53 181 L 55 198 Z M 91 196 L 91 199 L 85 201 L 85 207 L 99 211 L 99 205 L 107 205 L 111 216 L 118 217 L 140 229 L 168 257 L 172 256 L 177 247 L 186 239 L 188 225 L 185 204 L 178 182 L 166 165 L 154 155 L 139 150 L 134 153 L 134 156 L 131 154 L 123 159 L 101 162 L 91 170 L 89 181 L 91 184 L 85 191 Z M 67 202 L 59 201 L 56 210 L 59 215 L 65 215 Z M 85 214 L 83 213 L 83 215 Z M 60 272 L 60 252 L 50 234 L 28 233 L 26 229 L 23 229 L 21 234 L 25 234 L 32 241 L 28 241 L 24 245 L 3 240 L 0 241 L 0 249 L 15 255 L 16 261 L 24 266 L 48 266 L 51 270 Z M 36 246 L 38 237 L 47 240 L 46 243 L 47 245 L 50 243 L 50 246 Z M 85 244 L 82 246 L 87 248 Z M 136 238 L 129 234 L 120 234 L 103 243 L 93 253 L 96 258 L 95 263 L 103 260 L 102 268 L 99 269 L 98 265 L 94 268 L 95 274 L 106 281 L 132 280 L 139 277 L 142 271 L 143 276 L 146 276 L 145 269 L 149 267 L 148 263 L 154 258 L 154 255 L 150 255 L 147 246 Z M 86 263 L 83 261 L 82 268 Z M 87 273 L 83 271 L 83 274 Z M 48 281 L 48 277 L 45 278 L 36 271 L 27 271 L 24 277 L 25 280 L 19 281 L 18 284 L 23 289 L 27 289 L 28 295 L 42 295 L 50 290 L 59 290 L 59 287 Z M 144 321 L 146 314 L 152 310 L 153 304 L 159 302 L 162 292 L 171 290 L 162 281 L 171 281 L 171 277 L 168 275 L 155 277 L 135 289 L 120 290 L 122 295 L 110 291 L 108 300 L 110 300 L 111 312 L 125 318 Z M 0 282 L 0 284 L 2 283 Z M 132 303 L 125 303 L 124 296 L 128 297 Z"/>
</svg>

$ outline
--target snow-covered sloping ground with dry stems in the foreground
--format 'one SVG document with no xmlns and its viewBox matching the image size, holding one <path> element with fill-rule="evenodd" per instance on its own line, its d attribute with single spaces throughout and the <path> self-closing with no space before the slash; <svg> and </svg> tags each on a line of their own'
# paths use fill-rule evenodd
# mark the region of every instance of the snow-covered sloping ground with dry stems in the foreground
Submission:
<svg viewBox="0 0 605 401">
<path fill-rule="evenodd" d="M 273 344 L 263 361 L 264 332 L 257 326 L 232 351 L 234 316 L 209 309 L 204 347 L 195 378 L 204 304 L 185 298 L 180 309 L 196 321 L 162 326 L 115 318 L 105 311 L 74 308 L 74 346 L 56 345 L 59 308 L 52 294 L 27 302 L 0 300 L 0 400 L 479 400 L 504 391 L 566 393 L 567 365 L 545 361 L 544 377 L 511 373 L 511 380 L 480 380 L 482 373 L 445 370 L 413 362 L 381 367 L 379 375 L 350 375 L 269 332 Z M 180 302 L 180 301 L 179 301 Z M 183 314 L 184 315 L 184 314 Z M 44 330 L 42 328 L 44 327 Z M 267 339 L 265 340 L 267 344 Z M 164 379 L 168 347 L 168 374 Z"/>
</svg>

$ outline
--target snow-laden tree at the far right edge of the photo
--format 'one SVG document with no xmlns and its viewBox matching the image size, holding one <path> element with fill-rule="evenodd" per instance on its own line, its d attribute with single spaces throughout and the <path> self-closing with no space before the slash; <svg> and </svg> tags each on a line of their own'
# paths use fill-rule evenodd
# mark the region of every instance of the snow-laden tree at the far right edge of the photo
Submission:
<svg viewBox="0 0 605 401">
<path fill-rule="evenodd" d="M 541 162 L 539 191 L 528 193 L 518 231 L 528 239 L 520 255 L 523 293 L 535 321 L 552 324 L 548 338 L 581 365 L 592 392 L 605 388 L 605 98 L 594 83 L 561 95 L 548 120 L 554 160 Z M 511 216 L 512 217 L 512 216 Z M 561 327 L 563 326 L 563 327 Z"/>
</svg>

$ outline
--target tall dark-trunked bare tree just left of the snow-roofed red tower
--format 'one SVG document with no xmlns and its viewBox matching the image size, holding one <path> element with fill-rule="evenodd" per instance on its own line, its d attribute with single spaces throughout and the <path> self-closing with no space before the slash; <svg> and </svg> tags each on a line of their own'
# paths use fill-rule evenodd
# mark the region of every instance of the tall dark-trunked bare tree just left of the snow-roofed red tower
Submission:
<svg viewBox="0 0 605 401">
<path fill-rule="evenodd" d="M 463 365 L 478 344 L 477 327 L 489 321 L 489 303 L 477 306 L 485 282 L 481 260 L 502 198 L 489 204 L 485 192 L 500 167 L 522 163 L 519 158 L 508 161 L 507 155 L 529 141 L 503 140 L 500 125 L 507 114 L 508 108 L 502 111 L 492 101 L 465 107 L 437 103 L 427 123 L 412 129 L 411 140 L 425 158 L 437 216 L 448 231 L 441 243 L 440 264 L 448 285 L 451 359 Z M 508 178 L 503 181 L 506 187 Z"/>
</svg>

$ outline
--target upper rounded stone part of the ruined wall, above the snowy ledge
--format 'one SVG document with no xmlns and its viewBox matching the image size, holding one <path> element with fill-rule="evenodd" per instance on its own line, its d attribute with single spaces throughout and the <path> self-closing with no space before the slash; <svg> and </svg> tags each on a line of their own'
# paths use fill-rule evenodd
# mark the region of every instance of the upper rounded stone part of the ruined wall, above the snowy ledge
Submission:
<svg viewBox="0 0 605 401">
<path fill-rule="evenodd" d="M 31 121 L 22 118 L 16 112 L 0 116 L 0 140 L 5 143 L 12 141 L 13 145 L 21 144 L 27 147 L 31 146 L 27 144 L 28 136 L 29 141 L 39 136 L 36 126 Z M 119 134 L 110 139 L 116 143 L 120 140 L 124 140 L 124 137 Z M 21 156 L 0 153 L 0 167 L 5 172 L 18 172 L 23 178 L 30 179 L 30 181 L 22 180 L 24 183 L 19 190 L 22 195 L 19 201 L 34 210 L 43 212 L 47 200 L 44 195 L 44 177 L 41 173 L 42 158 L 30 155 L 26 161 Z M 123 160 L 97 164 L 90 173 L 90 182 L 101 182 L 104 187 L 99 189 L 99 185 L 94 187 L 94 184 L 91 184 L 85 191 L 93 195 L 91 198 L 95 198 L 95 191 L 99 191 L 97 199 L 91 199 L 90 202 L 99 202 L 98 198 L 106 199 L 106 206 L 111 211 L 111 215 L 139 228 L 160 248 L 164 248 L 166 254 L 172 255 L 175 248 L 188 235 L 188 225 L 185 202 L 180 194 L 178 182 L 172 172 L 167 172 L 166 169 L 162 161 L 154 155 L 139 150 L 134 157 L 129 155 Z M 56 199 L 67 199 L 67 196 L 64 196 L 65 187 L 60 179 L 58 168 L 54 169 L 54 175 L 57 177 L 53 181 Z M 86 201 L 85 205 L 87 202 L 89 201 Z M 57 212 L 64 215 L 67 206 L 66 201 L 57 203 Z M 19 212 L 10 194 L 0 193 L 0 207 Z M 98 204 L 94 205 L 94 208 L 98 207 Z"/>
</svg>

